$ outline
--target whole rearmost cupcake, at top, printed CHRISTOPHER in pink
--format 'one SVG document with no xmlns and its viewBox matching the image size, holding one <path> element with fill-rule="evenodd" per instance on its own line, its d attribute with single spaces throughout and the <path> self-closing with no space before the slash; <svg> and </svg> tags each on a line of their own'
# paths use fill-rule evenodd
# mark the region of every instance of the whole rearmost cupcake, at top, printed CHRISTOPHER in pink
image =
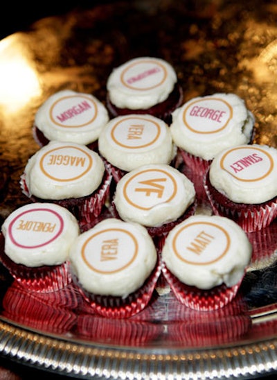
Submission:
<svg viewBox="0 0 277 380">
<path fill-rule="evenodd" d="M 107 109 L 113 117 L 151 114 L 170 123 L 182 101 L 175 69 L 161 58 L 134 58 L 116 67 L 107 79 Z"/>
</svg>

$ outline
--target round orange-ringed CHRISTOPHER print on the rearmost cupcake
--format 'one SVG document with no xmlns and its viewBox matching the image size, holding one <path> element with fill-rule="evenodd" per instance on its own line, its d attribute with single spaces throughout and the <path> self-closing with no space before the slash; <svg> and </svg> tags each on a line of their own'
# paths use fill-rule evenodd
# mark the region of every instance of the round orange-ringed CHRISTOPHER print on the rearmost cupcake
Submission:
<svg viewBox="0 0 277 380">
<path fill-rule="evenodd" d="M 139 60 L 125 67 L 120 75 L 125 87 L 135 90 L 148 90 L 159 87 L 167 76 L 166 67 L 156 60 Z"/>
</svg>

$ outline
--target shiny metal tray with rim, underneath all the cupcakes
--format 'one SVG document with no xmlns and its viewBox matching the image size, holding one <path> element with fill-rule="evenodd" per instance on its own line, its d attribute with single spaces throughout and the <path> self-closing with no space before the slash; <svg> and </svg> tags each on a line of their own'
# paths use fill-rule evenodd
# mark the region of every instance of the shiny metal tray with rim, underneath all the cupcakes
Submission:
<svg viewBox="0 0 277 380">
<path fill-rule="evenodd" d="M 0 218 L 28 202 L 19 177 L 39 148 L 37 107 L 60 89 L 103 103 L 111 70 L 152 55 L 172 63 L 184 101 L 234 92 L 256 116 L 255 142 L 276 146 L 277 8 L 274 1 L 118 1 L 37 21 L 0 42 Z M 205 212 L 208 208 L 202 203 Z M 251 267 L 219 311 L 179 304 L 161 280 L 127 320 L 91 314 L 73 286 L 28 293 L 0 267 L 0 352 L 80 378 L 251 378 L 277 371 L 277 224 L 249 234 Z"/>
</svg>

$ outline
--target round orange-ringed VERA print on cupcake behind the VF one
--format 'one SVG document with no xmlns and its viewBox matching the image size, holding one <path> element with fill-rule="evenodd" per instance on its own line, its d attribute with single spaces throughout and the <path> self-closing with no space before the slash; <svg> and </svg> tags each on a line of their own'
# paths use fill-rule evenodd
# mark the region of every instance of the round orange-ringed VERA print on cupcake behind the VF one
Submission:
<svg viewBox="0 0 277 380">
<path fill-rule="evenodd" d="M 107 129 L 106 137 L 111 144 L 124 150 L 146 150 L 154 148 L 166 135 L 166 128 L 161 128 L 157 121 L 147 117 L 125 117 Z"/>
</svg>

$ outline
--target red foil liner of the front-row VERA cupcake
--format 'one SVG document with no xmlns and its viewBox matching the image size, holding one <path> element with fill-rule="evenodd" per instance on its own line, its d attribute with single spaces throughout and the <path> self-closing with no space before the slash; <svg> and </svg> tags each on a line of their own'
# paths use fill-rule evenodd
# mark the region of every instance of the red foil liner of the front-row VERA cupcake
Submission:
<svg viewBox="0 0 277 380">
<path fill-rule="evenodd" d="M 150 277 L 145 281 L 143 286 L 127 297 L 113 297 L 106 295 L 96 295 L 89 293 L 78 282 L 75 275 L 72 275 L 75 286 L 84 300 L 91 306 L 91 310 L 107 318 L 129 318 L 139 313 L 148 305 L 152 299 L 154 288 L 161 273 L 161 264 L 158 261 Z"/>
</svg>

